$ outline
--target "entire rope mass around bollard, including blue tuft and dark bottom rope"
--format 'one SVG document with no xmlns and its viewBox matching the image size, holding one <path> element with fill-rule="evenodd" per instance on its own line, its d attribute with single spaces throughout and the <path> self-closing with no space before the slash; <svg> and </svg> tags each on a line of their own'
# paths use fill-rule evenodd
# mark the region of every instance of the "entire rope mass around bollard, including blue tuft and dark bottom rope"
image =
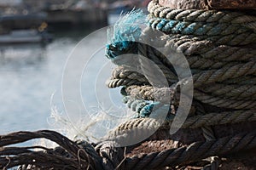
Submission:
<svg viewBox="0 0 256 170">
<path fill-rule="evenodd" d="M 199 163 L 204 170 L 215 170 L 221 163 L 219 156 L 256 149 L 256 16 L 229 10 L 168 8 L 158 1 L 148 4 L 148 12 L 148 27 L 143 30 L 132 25 L 122 32 L 124 28 L 118 30 L 118 25 L 125 22 L 119 21 L 106 47 L 108 59 L 118 65 L 107 82 L 108 88 L 123 87 L 123 102 L 135 118 L 120 124 L 97 144 L 73 142 L 54 131 L 2 135 L 1 169 L 184 169 Z M 131 24 L 128 16 L 124 20 Z M 163 33 L 149 37 L 155 30 Z M 157 48 L 136 42 L 137 38 Z M 169 60 L 170 56 L 160 53 L 160 49 L 170 55 L 182 53 L 194 82 L 194 95 L 186 96 L 193 98 L 189 116 L 174 134 L 169 130 L 180 105 L 180 86 L 189 79 L 185 73 L 179 79 L 174 69 L 183 72 L 183 60 L 172 56 Z M 153 61 L 166 77 L 168 87 L 152 85 L 150 65 L 142 65 L 141 72 L 132 71 L 122 54 L 139 54 Z M 130 64 L 139 62 L 134 58 Z M 165 99 L 165 94 L 171 99 Z M 161 122 L 157 114 L 162 111 L 168 111 L 168 115 Z M 139 144 L 117 147 L 148 134 L 151 136 Z M 59 146 L 9 146 L 38 138 Z M 203 160 L 209 157 L 210 164 Z"/>
</svg>

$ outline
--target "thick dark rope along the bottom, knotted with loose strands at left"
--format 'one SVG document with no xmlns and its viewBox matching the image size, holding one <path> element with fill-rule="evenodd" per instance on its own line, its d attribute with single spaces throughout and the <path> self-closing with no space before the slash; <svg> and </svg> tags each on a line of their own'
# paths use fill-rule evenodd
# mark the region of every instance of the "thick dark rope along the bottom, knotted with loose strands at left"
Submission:
<svg viewBox="0 0 256 170">
<path fill-rule="evenodd" d="M 73 143 L 70 139 L 54 131 L 20 132 L 1 136 L 0 167 L 26 167 L 40 169 L 155 169 L 161 167 L 176 167 L 198 161 L 209 156 L 225 156 L 240 150 L 249 150 L 256 147 L 256 134 L 239 133 L 235 136 L 212 139 L 206 142 L 195 142 L 189 146 L 160 150 L 149 154 L 143 152 L 125 156 L 125 148 L 116 147 L 113 141 L 103 141 L 93 147 L 90 144 Z M 45 138 L 60 144 L 61 151 L 47 149 L 42 146 L 8 147 L 9 144 L 18 144 L 29 139 Z M 166 144 L 169 144 L 169 139 Z M 150 144 L 150 141 L 148 142 Z M 82 148 L 80 148 L 80 146 Z M 163 143 L 165 145 L 165 143 Z M 45 151 L 32 151 L 41 149 Z M 61 155 L 66 151 L 71 157 Z M 76 157 L 79 156 L 77 160 Z M 84 159 L 84 156 L 86 159 Z M 47 158 L 47 159 L 46 159 Z M 31 161 L 30 161 L 31 160 Z M 27 166 L 30 164 L 30 166 Z M 96 167 L 94 167 L 95 165 Z M 23 168 L 22 168 L 23 169 Z"/>
</svg>

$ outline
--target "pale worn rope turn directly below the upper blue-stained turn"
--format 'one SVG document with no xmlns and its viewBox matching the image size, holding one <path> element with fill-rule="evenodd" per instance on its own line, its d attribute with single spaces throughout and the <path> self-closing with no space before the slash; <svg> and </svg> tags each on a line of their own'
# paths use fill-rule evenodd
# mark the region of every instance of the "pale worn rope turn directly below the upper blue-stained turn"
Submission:
<svg viewBox="0 0 256 170">
<path fill-rule="evenodd" d="M 143 38 L 144 37 L 146 36 L 143 36 Z M 172 52 L 172 48 L 176 48 L 178 51 L 183 52 L 187 57 L 190 68 L 192 69 L 218 69 L 224 65 L 237 65 L 236 61 L 248 62 L 254 60 L 254 56 L 256 54 L 256 50 L 253 48 L 236 48 L 223 45 L 214 47 L 212 42 L 209 41 L 197 41 L 189 38 L 183 39 L 176 37 L 171 37 L 171 39 L 165 40 L 166 37 L 168 36 L 155 38 L 160 38 L 162 40 L 161 42 L 166 42 L 164 49 L 170 49 L 170 52 L 166 52 L 166 54 L 175 55 L 175 53 Z M 156 42 L 157 43 L 154 43 L 154 41 L 152 42 L 155 47 L 159 46 L 158 41 Z M 159 51 L 152 47 L 139 48 L 139 53 L 148 57 L 148 59 L 155 60 L 157 57 L 162 65 L 166 65 L 168 68 L 172 68 L 173 65 L 183 66 L 183 62 L 179 61 L 178 57 L 168 57 L 168 60 L 165 55 L 160 54 Z M 172 63 L 170 62 L 170 59 L 172 60 Z"/>
</svg>

